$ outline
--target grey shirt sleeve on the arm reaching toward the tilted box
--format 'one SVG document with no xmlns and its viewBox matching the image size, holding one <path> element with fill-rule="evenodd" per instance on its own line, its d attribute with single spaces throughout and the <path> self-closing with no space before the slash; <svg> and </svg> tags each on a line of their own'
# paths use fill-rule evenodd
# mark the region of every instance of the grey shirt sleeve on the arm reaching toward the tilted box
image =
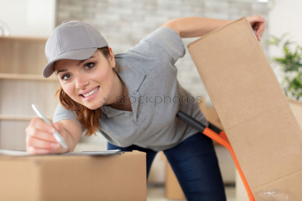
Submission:
<svg viewBox="0 0 302 201">
<path fill-rule="evenodd" d="M 128 51 L 146 57 L 169 56 L 170 62 L 174 65 L 178 58 L 185 55 L 185 46 L 175 30 L 159 27 Z"/>
</svg>

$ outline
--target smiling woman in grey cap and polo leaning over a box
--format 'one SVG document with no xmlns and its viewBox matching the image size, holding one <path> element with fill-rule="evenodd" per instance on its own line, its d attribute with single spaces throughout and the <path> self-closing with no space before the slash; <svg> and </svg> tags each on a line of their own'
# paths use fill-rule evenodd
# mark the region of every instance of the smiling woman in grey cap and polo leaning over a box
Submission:
<svg viewBox="0 0 302 201">
<path fill-rule="evenodd" d="M 265 19 L 247 19 L 260 40 Z M 174 64 L 185 54 L 181 37 L 202 36 L 230 22 L 174 19 L 117 55 L 91 25 L 63 22 L 47 40 L 43 76 L 55 72 L 59 79 L 53 126 L 68 148 L 56 142 L 53 127 L 35 117 L 26 128 L 27 151 L 72 152 L 83 129 L 86 136 L 99 129 L 108 149 L 146 152 L 147 177 L 163 150 L 188 200 L 226 200 L 212 140 L 175 117 L 181 110 L 208 125 L 204 115 L 197 104 L 173 101 L 190 95 L 176 79 Z"/>
</svg>

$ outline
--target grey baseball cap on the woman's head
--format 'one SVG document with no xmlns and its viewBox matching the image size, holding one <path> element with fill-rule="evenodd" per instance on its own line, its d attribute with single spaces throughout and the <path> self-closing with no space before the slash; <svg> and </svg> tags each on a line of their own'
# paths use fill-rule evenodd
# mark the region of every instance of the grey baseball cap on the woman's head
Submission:
<svg viewBox="0 0 302 201">
<path fill-rule="evenodd" d="M 54 72 L 54 62 L 60 59 L 85 60 L 98 48 L 108 46 L 104 37 L 90 24 L 80 21 L 63 22 L 47 39 L 45 56 L 48 64 L 43 69 L 43 77 Z"/>
</svg>

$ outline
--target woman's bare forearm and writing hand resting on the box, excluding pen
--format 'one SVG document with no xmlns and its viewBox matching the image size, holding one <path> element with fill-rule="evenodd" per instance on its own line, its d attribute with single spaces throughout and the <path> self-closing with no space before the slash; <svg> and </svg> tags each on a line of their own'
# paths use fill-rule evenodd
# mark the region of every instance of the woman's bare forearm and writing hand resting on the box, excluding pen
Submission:
<svg viewBox="0 0 302 201">
<path fill-rule="evenodd" d="M 82 135 L 81 126 L 77 122 L 68 119 L 53 123 L 53 126 L 65 140 L 67 149 L 59 146 L 59 143 L 53 137 L 52 126 L 39 117 L 34 117 L 25 129 L 26 151 L 31 155 L 73 152 Z"/>
</svg>

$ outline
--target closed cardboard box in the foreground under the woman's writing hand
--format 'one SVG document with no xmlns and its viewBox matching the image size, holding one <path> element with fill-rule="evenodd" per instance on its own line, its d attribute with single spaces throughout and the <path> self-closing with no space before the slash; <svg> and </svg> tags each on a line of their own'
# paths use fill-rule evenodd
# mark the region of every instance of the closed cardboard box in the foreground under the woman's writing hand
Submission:
<svg viewBox="0 0 302 201">
<path fill-rule="evenodd" d="M 146 200 L 146 153 L 109 156 L 0 155 L 0 199 Z"/>
</svg>

